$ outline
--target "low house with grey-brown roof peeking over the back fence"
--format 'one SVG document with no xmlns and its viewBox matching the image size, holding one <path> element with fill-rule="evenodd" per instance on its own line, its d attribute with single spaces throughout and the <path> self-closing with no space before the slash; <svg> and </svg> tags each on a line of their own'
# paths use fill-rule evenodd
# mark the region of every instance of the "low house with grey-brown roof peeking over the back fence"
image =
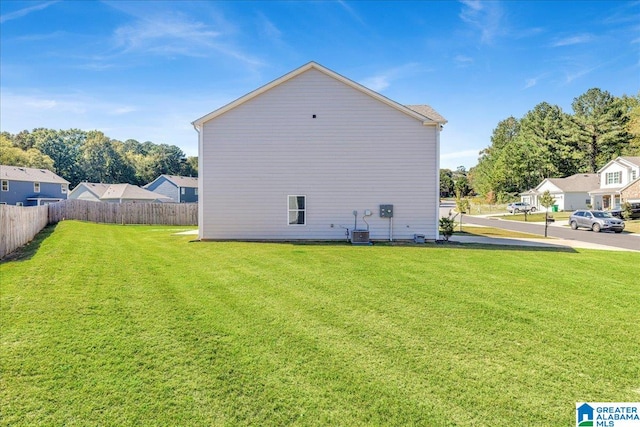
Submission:
<svg viewBox="0 0 640 427">
<path fill-rule="evenodd" d="M 109 203 L 171 203 L 172 200 L 131 184 L 81 182 L 69 193 L 69 199 Z"/>
</svg>

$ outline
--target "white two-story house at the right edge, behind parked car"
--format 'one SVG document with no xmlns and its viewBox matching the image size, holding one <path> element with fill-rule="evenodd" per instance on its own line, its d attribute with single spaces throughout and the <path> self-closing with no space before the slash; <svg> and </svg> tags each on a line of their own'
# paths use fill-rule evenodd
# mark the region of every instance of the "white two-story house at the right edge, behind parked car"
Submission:
<svg viewBox="0 0 640 427">
<path fill-rule="evenodd" d="M 589 191 L 595 209 L 612 209 L 620 205 L 621 192 L 640 178 L 640 157 L 617 157 L 599 171 L 600 188 Z"/>
</svg>

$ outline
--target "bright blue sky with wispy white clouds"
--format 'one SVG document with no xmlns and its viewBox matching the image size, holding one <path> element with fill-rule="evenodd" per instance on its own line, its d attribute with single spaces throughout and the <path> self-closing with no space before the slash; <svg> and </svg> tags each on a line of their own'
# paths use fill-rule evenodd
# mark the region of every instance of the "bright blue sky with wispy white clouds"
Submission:
<svg viewBox="0 0 640 427">
<path fill-rule="evenodd" d="M 449 123 L 441 167 L 592 87 L 640 90 L 640 1 L 0 2 L 0 128 L 98 129 L 197 155 L 191 122 L 316 61 Z"/>
</svg>

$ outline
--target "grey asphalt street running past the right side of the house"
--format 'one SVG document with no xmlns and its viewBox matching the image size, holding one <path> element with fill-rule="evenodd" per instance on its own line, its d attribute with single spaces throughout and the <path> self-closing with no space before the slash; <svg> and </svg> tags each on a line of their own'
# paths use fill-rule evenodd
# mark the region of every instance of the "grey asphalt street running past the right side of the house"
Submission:
<svg viewBox="0 0 640 427">
<path fill-rule="evenodd" d="M 451 204 L 440 205 L 440 215 L 447 216 L 450 209 L 454 206 Z M 487 227 L 502 228 L 505 230 L 520 231 L 524 233 L 538 234 L 544 236 L 544 223 L 506 221 L 491 217 L 478 217 L 464 215 L 462 224 L 484 225 Z M 612 232 L 594 233 L 593 231 L 580 229 L 572 230 L 569 227 L 560 225 L 549 225 L 547 235 L 565 240 L 583 241 L 598 245 L 613 246 L 622 249 L 631 249 L 640 251 L 640 236 L 630 233 L 616 234 Z"/>
</svg>

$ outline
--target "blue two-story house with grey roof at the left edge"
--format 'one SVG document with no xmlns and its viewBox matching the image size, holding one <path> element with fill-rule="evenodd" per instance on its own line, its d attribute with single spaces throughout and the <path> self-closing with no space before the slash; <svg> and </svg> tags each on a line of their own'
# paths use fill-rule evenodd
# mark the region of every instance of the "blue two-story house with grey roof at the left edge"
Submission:
<svg viewBox="0 0 640 427">
<path fill-rule="evenodd" d="M 0 203 L 40 206 L 67 198 L 69 181 L 50 170 L 0 166 Z"/>
</svg>

